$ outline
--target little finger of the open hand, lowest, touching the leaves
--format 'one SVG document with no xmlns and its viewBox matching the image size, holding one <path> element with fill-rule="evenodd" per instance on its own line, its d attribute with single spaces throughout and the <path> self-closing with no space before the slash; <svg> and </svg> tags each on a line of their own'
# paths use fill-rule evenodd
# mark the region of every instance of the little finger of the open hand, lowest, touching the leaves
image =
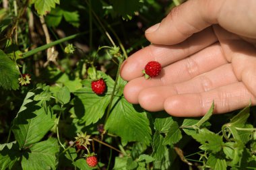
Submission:
<svg viewBox="0 0 256 170">
<path fill-rule="evenodd" d="M 202 93 L 172 95 L 164 101 L 164 110 L 172 116 L 203 116 L 213 101 L 214 113 L 222 114 L 244 108 L 250 101 L 255 105 L 256 98 L 243 83 L 238 82 Z"/>
</svg>

